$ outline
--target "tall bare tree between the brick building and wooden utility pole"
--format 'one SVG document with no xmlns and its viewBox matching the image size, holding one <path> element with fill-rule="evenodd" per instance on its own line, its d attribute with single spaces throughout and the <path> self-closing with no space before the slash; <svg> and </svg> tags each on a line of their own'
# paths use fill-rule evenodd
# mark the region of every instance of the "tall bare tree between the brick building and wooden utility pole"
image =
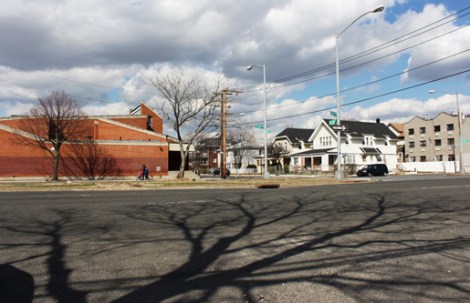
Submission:
<svg viewBox="0 0 470 303">
<path fill-rule="evenodd" d="M 152 81 L 164 99 L 158 110 L 173 127 L 180 145 L 178 178 L 184 178 L 191 145 L 218 118 L 220 99 L 216 93 L 221 81 L 219 77 L 213 88 L 207 87 L 197 77 L 187 79 L 181 74 L 157 76 Z"/>
</svg>

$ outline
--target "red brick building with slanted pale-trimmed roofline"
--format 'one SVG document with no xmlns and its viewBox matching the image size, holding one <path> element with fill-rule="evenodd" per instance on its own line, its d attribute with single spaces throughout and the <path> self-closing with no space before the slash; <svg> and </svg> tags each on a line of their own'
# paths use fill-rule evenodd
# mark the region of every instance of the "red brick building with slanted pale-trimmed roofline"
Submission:
<svg viewBox="0 0 470 303">
<path fill-rule="evenodd" d="M 52 157 L 25 144 L 34 139 L 19 129 L 21 119 L 0 118 L 0 177 L 52 176 Z M 151 177 L 168 176 L 169 164 L 175 162 L 169 146 L 175 141 L 163 135 L 162 118 L 145 104 L 129 115 L 88 117 L 86 124 L 87 142 L 61 148 L 61 178 L 133 177 L 143 164 Z"/>
</svg>

